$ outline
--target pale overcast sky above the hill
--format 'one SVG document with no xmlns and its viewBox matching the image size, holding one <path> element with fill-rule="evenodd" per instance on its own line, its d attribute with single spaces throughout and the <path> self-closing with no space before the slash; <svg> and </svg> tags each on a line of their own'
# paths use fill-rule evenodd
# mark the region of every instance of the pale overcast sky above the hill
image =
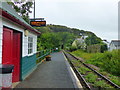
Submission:
<svg viewBox="0 0 120 90">
<path fill-rule="evenodd" d="M 35 1 L 36 18 L 45 18 L 47 24 L 92 31 L 108 41 L 118 39 L 119 0 Z"/>
</svg>

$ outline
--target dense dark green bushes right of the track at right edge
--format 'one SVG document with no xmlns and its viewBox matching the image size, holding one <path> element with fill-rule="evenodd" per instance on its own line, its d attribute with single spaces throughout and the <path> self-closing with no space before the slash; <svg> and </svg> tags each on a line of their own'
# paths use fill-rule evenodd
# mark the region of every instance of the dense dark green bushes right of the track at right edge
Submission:
<svg viewBox="0 0 120 90">
<path fill-rule="evenodd" d="M 92 62 L 113 75 L 120 75 L 120 56 L 118 55 L 118 50 L 105 52 L 101 57 L 96 54 L 96 57 L 97 59 L 92 58 L 89 62 Z"/>
</svg>

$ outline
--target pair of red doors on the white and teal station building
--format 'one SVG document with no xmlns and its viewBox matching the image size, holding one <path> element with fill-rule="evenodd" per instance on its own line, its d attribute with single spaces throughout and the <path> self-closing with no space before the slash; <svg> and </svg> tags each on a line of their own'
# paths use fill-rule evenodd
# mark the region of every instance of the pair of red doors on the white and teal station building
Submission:
<svg viewBox="0 0 120 90">
<path fill-rule="evenodd" d="M 14 64 L 13 82 L 20 79 L 20 33 L 3 29 L 2 63 Z"/>
</svg>

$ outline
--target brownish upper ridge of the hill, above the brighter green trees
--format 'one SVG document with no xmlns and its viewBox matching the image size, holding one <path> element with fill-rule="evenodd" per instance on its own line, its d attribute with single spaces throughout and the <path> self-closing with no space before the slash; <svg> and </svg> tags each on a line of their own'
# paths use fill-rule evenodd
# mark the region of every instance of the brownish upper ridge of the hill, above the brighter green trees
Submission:
<svg viewBox="0 0 120 90">
<path fill-rule="evenodd" d="M 90 31 L 80 30 L 77 28 L 69 28 L 67 26 L 62 26 L 62 25 L 49 24 L 46 27 L 36 27 L 36 29 L 40 31 L 41 33 L 69 32 L 69 33 L 74 33 L 76 36 L 80 36 L 80 34 L 85 35 L 85 36 L 90 36 L 90 35 L 96 36 L 93 32 L 90 32 Z"/>
</svg>

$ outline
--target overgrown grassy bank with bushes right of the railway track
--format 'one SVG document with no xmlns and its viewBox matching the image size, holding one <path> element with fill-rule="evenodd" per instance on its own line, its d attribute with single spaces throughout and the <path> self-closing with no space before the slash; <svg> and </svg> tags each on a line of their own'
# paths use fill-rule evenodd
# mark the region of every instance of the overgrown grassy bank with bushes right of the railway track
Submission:
<svg viewBox="0 0 120 90">
<path fill-rule="evenodd" d="M 104 53 L 86 53 L 77 50 L 72 54 L 83 58 L 85 63 L 99 67 L 99 72 L 120 86 L 120 50 L 106 51 Z"/>
</svg>

